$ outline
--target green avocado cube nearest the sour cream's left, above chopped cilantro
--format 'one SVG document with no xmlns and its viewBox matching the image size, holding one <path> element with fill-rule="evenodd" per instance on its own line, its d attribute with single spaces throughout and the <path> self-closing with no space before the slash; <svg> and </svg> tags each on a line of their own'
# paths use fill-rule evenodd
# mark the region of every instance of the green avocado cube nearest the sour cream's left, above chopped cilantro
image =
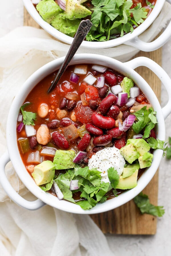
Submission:
<svg viewBox="0 0 171 256">
<path fill-rule="evenodd" d="M 73 163 L 73 159 L 75 156 L 76 153 L 74 150 L 56 150 L 53 161 L 55 169 L 62 170 L 75 167 L 75 163 Z"/>
</svg>

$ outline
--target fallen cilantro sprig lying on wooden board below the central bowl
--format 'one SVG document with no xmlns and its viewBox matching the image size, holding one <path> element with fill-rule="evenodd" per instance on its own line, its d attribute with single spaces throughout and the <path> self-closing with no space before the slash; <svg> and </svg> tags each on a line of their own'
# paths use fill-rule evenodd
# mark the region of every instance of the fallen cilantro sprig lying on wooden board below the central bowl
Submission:
<svg viewBox="0 0 171 256">
<path fill-rule="evenodd" d="M 142 192 L 134 198 L 134 202 L 142 214 L 147 213 L 158 217 L 162 217 L 164 215 L 163 206 L 152 205 L 148 196 Z"/>
</svg>

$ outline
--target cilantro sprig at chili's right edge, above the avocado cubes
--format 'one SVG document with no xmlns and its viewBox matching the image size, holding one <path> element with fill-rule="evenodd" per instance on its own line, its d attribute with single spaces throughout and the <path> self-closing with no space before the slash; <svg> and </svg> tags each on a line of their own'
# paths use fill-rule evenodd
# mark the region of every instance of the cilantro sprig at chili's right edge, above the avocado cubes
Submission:
<svg viewBox="0 0 171 256">
<path fill-rule="evenodd" d="M 140 110 L 136 111 L 134 115 L 137 117 L 138 122 L 133 123 L 132 128 L 135 133 L 139 134 L 140 131 L 144 129 L 144 136 L 143 138 L 146 139 L 150 135 L 151 129 L 157 123 L 157 119 L 155 117 L 156 111 L 152 107 L 146 109 L 146 106 L 141 108 Z"/>
</svg>

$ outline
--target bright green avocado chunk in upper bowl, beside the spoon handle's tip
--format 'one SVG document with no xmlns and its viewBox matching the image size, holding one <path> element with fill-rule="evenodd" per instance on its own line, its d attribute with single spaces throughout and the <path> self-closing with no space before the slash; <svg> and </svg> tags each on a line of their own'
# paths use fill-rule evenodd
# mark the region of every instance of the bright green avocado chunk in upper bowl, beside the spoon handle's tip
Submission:
<svg viewBox="0 0 171 256">
<path fill-rule="evenodd" d="M 80 19 L 69 20 L 63 19 L 62 15 L 58 14 L 56 17 L 50 22 L 52 27 L 58 29 L 60 32 L 70 35 L 74 37 L 78 26 L 80 25 Z"/>
</svg>

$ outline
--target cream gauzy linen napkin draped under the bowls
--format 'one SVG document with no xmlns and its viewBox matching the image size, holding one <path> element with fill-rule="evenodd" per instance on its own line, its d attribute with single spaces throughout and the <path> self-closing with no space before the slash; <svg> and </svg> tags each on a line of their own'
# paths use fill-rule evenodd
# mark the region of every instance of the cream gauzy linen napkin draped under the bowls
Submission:
<svg viewBox="0 0 171 256">
<path fill-rule="evenodd" d="M 8 2 L 14 6 L 12 0 Z M 170 18 L 170 11 L 170 5 L 166 3 L 153 25 L 140 38 L 151 41 Z M 6 150 L 5 126 L 16 93 L 36 69 L 66 55 L 68 49 L 68 45 L 53 40 L 45 31 L 32 27 L 18 27 L 1 37 L 0 155 Z M 126 61 L 138 50 L 120 45 L 109 49 L 78 50 L 78 53 L 83 52 L 99 53 Z M 28 200 L 35 199 L 18 179 L 11 163 L 7 165 L 6 173 L 17 192 L 25 195 Z M 1 186 L 0 202 L 0 256 L 114 255 L 105 236 L 89 216 L 65 213 L 50 206 L 27 211 L 10 201 Z"/>
</svg>

